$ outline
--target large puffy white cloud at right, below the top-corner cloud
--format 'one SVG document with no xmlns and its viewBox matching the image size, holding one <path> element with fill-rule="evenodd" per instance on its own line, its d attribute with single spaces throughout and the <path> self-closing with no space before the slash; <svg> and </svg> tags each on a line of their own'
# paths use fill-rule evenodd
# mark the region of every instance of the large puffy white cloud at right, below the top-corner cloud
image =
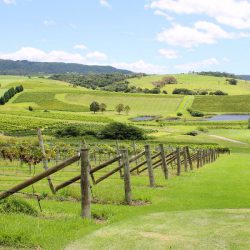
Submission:
<svg viewBox="0 0 250 250">
<path fill-rule="evenodd" d="M 160 32 L 157 40 L 172 46 L 192 48 L 200 44 L 213 44 L 219 39 L 237 39 L 242 36 L 227 32 L 214 23 L 199 21 L 193 27 L 173 24 L 171 28 Z"/>
</svg>

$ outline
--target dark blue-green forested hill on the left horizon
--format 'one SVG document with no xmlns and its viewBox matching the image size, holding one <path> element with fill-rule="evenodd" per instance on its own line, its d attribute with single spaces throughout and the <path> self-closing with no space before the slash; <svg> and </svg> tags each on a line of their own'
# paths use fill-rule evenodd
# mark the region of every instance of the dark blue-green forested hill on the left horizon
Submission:
<svg viewBox="0 0 250 250">
<path fill-rule="evenodd" d="M 77 63 L 58 63 L 58 62 L 30 62 L 12 61 L 0 59 L 1 75 L 37 75 L 37 74 L 131 74 L 128 70 L 116 69 L 111 66 L 83 65 Z"/>
</svg>

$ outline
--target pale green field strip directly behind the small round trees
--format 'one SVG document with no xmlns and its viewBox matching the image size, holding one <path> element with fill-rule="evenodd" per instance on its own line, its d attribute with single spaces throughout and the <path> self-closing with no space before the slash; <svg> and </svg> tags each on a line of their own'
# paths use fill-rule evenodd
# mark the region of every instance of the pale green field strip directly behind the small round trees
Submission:
<svg viewBox="0 0 250 250">
<path fill-rule="evenodd" d="M 131 115 L 168 115 L 175 114 L 183 97 L 145 94 L 122 94 L 92 91 L 82 94 L 57 95 L 59 100 L 76 105 L 89 106 L 93 101 L 105 103 L 107 110 L 114 111 L 119 103 L 129 105 Z"/>
</svg>

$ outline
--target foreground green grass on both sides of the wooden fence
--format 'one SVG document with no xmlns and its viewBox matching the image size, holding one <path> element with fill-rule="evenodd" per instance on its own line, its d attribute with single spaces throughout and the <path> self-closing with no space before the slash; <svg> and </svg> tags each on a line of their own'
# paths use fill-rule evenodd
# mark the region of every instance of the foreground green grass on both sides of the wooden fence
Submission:
<svg viewBox="0 0 250 250">
<path fill-rule="evenodd" d="M 118 205 L 124 195 L 123 181 L 113 177 L 93 187 L 95 197 L 108 203 L 92 205 L 93 213 L 105 218 L 103 222 L 83 221 L 79 201 L 42 200 L 38 217 L 1 215 L 0 243 L 6 248 L 44 249 L 247 249 L 248 158 L 244 153 L 221 156 L 213 164 L 181 177 L 172 175 L 167 181 L 158 170 L 158 188 L 148 187 L 146 175 L 132 176 L 133 198 L 152 203 L 138 207 Z M 69 175 L 65 170 L 52 179 L 60 182 Z M 48 192 L 46 181 L 34 188 Z M 68 195 L 79 197 L 79 184 L 59 194 Z M 38 208 L 35 200 L 28 202 Z"/>
</svg>

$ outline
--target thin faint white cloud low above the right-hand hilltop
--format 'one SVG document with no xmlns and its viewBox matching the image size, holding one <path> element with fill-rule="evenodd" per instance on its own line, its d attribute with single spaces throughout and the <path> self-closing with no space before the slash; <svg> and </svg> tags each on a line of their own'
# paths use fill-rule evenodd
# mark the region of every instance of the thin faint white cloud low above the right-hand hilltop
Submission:
<svg viewBox="0 0 250 250">
<path fill-rule="evenodd" d="M 219 65 L 220 62 L 216 58 L 209 58 L 200 62 L 190 62 L 186 64 L 176 65 L 175 68 L 188 72 L 197 70 L 208 70 L 213 66 Z"/>
</svg>

